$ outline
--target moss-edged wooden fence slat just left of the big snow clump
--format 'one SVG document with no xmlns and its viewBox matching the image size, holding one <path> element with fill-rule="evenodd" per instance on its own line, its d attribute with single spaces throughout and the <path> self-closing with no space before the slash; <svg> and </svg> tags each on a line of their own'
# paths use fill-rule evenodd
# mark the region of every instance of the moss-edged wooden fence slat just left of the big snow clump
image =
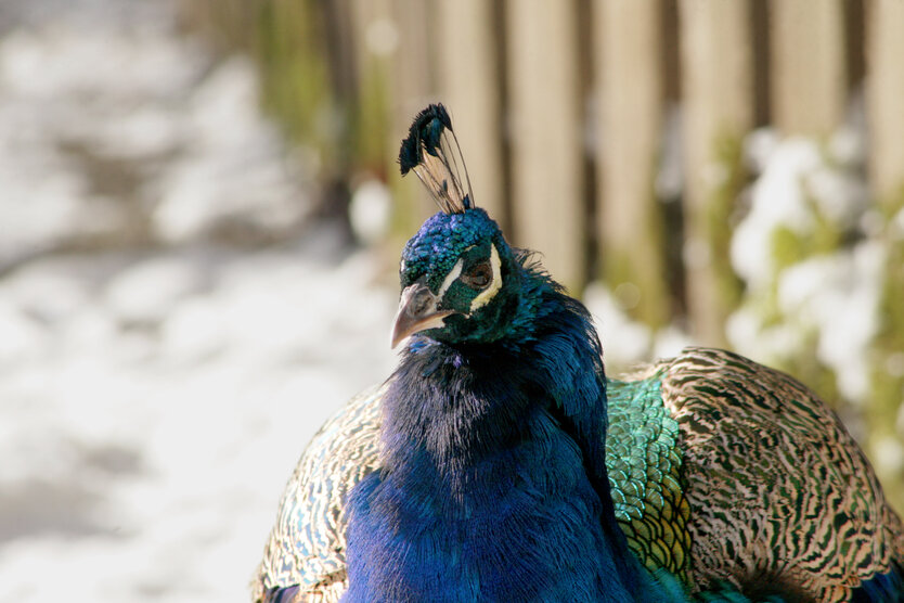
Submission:
<svg viewBox="0 0 904 603">
<path fill-rule="evenodd" d="M 728 261 L 728 217 L 744 185 L 741 142 L 753 124 L 750 5 L 681 0 L 685 267 L 692 330 L 722 345 L 739 295 Z"/>
</svg>

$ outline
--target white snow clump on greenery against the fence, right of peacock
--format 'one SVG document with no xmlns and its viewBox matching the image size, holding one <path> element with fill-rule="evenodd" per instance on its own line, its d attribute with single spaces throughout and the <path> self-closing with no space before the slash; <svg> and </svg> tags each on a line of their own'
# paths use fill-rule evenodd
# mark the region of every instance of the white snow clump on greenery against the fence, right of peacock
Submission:
<svg viewBox="0 0 904 603">
<path fill-rule="evenodd" d="M 815 355 L 834 372 L 839 393 L 855 403 L 869 394 L 886 261 L 875 236 L 881 218 L 868 207 L 863 176 L 862 108 L 854 104 L 826 144 L 780 139 L 770 129 L 748 137 L 748 159 L 760 174 L 731 248 L 747 291 L 726 324 L 732 346 L 761 362 L 782 365 Z M 837 248 L 776 257 L 778 229 L 812 242 L 821 223 L 843 235 Z"/>
</svg>

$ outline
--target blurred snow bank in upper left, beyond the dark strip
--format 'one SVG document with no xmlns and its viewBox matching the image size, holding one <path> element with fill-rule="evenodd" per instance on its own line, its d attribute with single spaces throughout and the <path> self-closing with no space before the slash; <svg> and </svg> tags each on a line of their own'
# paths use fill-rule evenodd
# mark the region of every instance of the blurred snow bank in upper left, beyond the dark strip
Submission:
<svg viewBox="0 0 904 603">
<path fill-rule="evenodd" d="M 214 63 L 177 36 L 169 1 L 33 4 L 54 10 L 24 9 L 29 23 L 0 39 L 0 266 L 73 244 L 268 238 L 304 221 L 306 175 L 260 117 L 248 59 Z"/>
</svg>

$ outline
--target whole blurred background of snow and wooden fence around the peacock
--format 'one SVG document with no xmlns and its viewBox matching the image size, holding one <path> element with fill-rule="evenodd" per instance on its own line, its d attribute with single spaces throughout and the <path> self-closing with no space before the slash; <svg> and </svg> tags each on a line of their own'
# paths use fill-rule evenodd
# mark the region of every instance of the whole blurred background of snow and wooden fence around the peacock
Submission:
<svg viewBox="0 0 904 603">
<path fill-rule="evenodd" d="M 247 599 L 435 101 L 611 374 L 786 370 L 904 510 L 902 56 L 901 0 L 0 0 L 0 601 Z"/>
</svg>

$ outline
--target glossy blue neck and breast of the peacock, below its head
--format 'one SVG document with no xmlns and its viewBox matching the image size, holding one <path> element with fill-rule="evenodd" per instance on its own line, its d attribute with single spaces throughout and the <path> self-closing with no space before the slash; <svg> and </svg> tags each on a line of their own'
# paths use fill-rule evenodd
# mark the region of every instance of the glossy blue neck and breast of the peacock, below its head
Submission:
<svg viewBox="0 0 904 603">
<path fill-rule="evenodd" d="M 348 499 L 345 601 L 658 600 L 612 513 L 590 317 L 524 275 L 534 291 L 513 321 L 529 311 L 532 329 L 482 345 L 416 337 L 403 354 L 384 470 Z"/>
</svg>

